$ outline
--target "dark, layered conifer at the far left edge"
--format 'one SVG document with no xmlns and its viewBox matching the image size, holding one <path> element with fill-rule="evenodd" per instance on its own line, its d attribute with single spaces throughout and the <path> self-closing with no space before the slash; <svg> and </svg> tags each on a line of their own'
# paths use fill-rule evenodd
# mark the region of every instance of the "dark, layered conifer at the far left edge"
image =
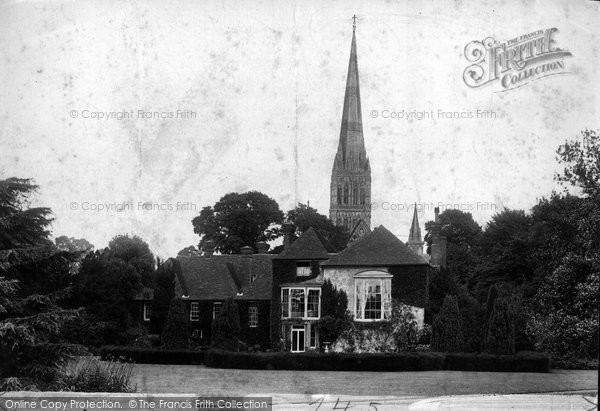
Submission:
<svg viewBox="0 0 600 411">
<path fill-rule="evenodd" d="M 0 391 L 47 389 L 77 352 L 60 330 L 78 315 L 61 307 L 78 256 L 49 240 L 49 208 L 29 208 L 37 189 L 0 180 Z"/>
</svg>

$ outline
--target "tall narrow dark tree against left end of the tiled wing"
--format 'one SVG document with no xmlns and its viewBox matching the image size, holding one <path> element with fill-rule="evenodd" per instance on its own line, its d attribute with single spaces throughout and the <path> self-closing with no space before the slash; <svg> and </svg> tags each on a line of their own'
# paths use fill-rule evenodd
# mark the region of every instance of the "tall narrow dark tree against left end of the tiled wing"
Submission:
<svg viewBox="0 0 600 411">
<path fill-rule="evenodd" d="M 158 267 L 156 272 L 156 286 L 152 300 L 152 314 L 150 315 L 150 333 L 162 333 L 171 300 L 175 297 L 175 272 L 179 269 L 179 262 L 173 258 Z"/>
</svg>

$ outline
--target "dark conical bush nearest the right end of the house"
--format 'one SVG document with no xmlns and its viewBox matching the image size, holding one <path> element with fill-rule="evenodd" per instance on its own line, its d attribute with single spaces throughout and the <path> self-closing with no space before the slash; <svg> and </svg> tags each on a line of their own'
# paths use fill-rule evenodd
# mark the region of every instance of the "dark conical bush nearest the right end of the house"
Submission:
<svg viewBox="0 0 600 411">
<path fill-rule="evenodd" d="M 431 326 L 431 348 L 442 352 L 460 352 L 464 347 L 463 326 L 456 297 L 448 295 Z"/>
</svg>

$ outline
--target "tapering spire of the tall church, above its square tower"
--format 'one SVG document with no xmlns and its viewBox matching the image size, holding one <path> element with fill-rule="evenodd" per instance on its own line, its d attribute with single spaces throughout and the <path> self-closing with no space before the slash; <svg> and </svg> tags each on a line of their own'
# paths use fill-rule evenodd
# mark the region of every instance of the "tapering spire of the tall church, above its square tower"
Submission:
<svg viewBox="0 0 600 411">
<path fill-rule="evenodd" d="M 362 130 L 362 110 L 360 106 L 358 62 L 356 58 L 356 33 L 354 29 L 352 30 L 352 46 L 350 48 L 346 92 L 344 94 L 340 141 L 333 168 L 353 171 L 370 169 Z"/>
</svg>

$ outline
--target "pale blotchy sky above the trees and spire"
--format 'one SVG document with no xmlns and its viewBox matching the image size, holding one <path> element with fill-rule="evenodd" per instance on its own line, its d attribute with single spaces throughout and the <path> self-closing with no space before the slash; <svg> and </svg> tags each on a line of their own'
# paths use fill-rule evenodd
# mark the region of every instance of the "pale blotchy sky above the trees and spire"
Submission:
<svg viewBox="0 0 600 411">
<path fill-rule="evenodd" d="M 557 147 L 598 128 L 598 8 L 3 1 L 0 178 L 35 180 L 54 236 L 135 234 L 163 258 L 196 245 L 191 220 L 229 192 L 328 215 L 356 15 L 373 227 L 406 241 L 414 203 L 422 228 L 435 206 L 483 225 L 559 190 Z M 465 83 L 467 44 L 550 28 L 571 53 L 561 74 Z"/>
</svg>

